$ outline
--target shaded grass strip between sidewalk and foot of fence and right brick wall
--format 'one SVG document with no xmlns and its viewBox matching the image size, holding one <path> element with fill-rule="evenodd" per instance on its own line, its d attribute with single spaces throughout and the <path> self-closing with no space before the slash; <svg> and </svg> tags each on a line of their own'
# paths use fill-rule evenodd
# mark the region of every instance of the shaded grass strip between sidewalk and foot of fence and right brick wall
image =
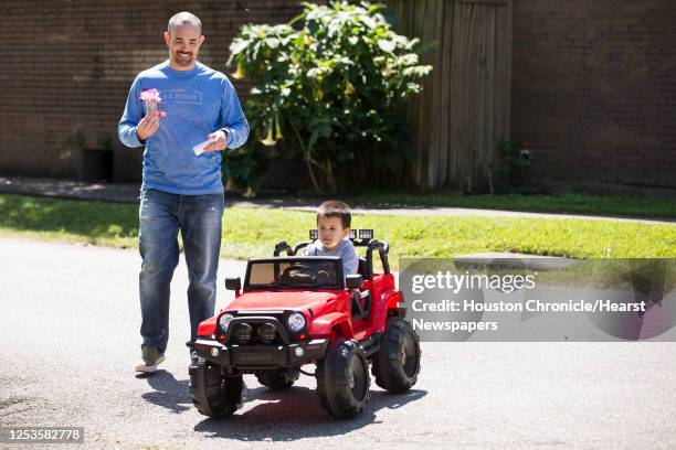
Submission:
<svg viewBox="0 0 676 450">
<path fill-rule="evenodd" d="M 419 195 L 373 192 L 353 197 L 353 201 L 358 203 L 409 206 L 471 207 L 479 210 L 526 211 L 534 213 L 676 218 L 675 199 L 644 199 L 617 195 Z"/>
</svg>

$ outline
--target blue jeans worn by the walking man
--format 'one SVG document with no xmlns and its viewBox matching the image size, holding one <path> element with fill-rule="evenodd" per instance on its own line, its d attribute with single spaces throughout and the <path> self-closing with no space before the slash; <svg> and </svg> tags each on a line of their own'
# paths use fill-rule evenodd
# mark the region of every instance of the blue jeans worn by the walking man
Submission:
<svg viewBox="0 0 676 450">
<path fill-rule="evenodd" d="M 165 353 L 169 339 L 169 285 L 178 265 L 181 231 L 188 265 L 190 342 L 201 321 L 213 315 L 221 250 L 223 194 L 179 195 L 157 190 L 141 193 L 139 274 L 142 345 Z"/>
</svg>

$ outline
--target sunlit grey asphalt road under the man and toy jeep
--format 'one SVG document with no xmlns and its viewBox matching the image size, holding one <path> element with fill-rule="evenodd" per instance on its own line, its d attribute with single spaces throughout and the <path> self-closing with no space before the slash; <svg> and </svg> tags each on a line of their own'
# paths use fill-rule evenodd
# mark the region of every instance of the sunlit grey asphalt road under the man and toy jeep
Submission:
<svg viewBox="0 0 676 450">
<path fill-rule="evenodd" d="M 676 343 L 658 342 L 423 343 L 414 389 L 373 385 L 358 418 L 327 416 L 313 378 L 279 394 L 246 376 L 243 408 L 208 419 L 188 393 L 183 261 L 163 369 L 133 372 L 139 262 L 0 239 L 0 426 L 83 426 L 85 448 L 676 448 Z M 242 269 L 223 260 L 219 279 Z"/>
</svg>

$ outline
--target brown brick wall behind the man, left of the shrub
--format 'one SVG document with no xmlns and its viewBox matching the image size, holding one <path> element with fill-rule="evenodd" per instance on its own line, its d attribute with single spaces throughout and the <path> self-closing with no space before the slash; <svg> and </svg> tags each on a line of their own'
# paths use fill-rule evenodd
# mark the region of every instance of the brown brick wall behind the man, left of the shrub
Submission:
<svg viewBox="0 0 676 450">
<path fill-rule="evenodd" d="M 117 140 L 117 121 L 136 74 L 167 58 L 162 32 L 183 1 L 74 0 L 2 2 L 10 20 L 0 72 L 0 174 L 78 178 L 87 148 L 112 138 L 115 181 L 138 181 L 142 149 Z M 200 61 L 224 71 L 228 46 L 244 23 L 277 23 L 298 0 L 210 0 L 190 11 L 207 36 Z M 242 86 L 237 86 L 244 94 Z"/>
</svg>

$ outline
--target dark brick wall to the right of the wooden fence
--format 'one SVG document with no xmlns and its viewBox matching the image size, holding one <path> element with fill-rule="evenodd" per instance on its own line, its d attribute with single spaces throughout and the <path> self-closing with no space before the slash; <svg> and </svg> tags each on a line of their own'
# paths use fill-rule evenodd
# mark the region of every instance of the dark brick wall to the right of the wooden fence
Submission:
<svg viewBox="0 0 676 450">
<path fill-rule="evenodd" d="M 535 178 L 676 188 L 676 1 L 514 1 L 513 137 Z"/>
</svg>

